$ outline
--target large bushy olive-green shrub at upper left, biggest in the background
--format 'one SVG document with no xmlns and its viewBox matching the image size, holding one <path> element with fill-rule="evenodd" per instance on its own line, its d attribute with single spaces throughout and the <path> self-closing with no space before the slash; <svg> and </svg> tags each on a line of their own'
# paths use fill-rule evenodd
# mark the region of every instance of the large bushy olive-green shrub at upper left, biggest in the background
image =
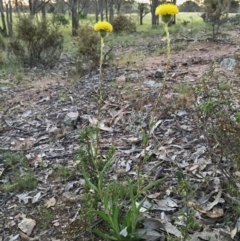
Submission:
<svg viewBox="0 0 240 241">
<path fill-rule="evenodd" d="M 34 20 L 21 16 L 9 42 L 9 57 L 23 65 L 53 67 L 63 49 L 63 36 L 50 20 Z"/>
</svg>

